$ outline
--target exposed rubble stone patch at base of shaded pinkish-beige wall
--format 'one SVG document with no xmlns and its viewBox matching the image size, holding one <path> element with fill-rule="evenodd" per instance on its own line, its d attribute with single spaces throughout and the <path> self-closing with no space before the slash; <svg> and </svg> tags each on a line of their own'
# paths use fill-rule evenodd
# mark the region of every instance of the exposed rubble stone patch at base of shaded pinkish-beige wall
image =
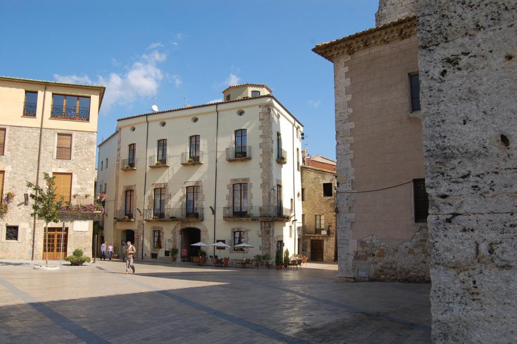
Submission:
<svg viewBox="0 0 517 344">
<path fill-rule="evenodd" d="M 354 271 L 358 279 L 386 282 L 430 282 L 429 237 L 427 225 L 422 225 L 411 240 L 389 245 L 375 235 L 357 241 Z M 366 276 L 359 276 L 358 271 Z"/>
</svg>

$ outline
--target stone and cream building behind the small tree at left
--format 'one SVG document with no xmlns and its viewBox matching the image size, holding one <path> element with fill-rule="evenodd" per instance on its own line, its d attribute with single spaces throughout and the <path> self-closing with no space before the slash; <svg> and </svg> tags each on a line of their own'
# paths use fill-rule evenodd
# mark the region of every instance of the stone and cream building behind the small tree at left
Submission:
<svg viewBox="0 0 517 344">
<path fill-rule="evenodd" d="M 105 88 L 0 77 L 1 259 L 44 259 L 44 222 L 31 217 L 26 182 L 55 177 L 65 222 L 49 224 L 49 259 L 82 248 L 92 255 L 95 143 Z M 61 244 L 63 237 L 63 244 Z M 63 255 L 61 255 L 63 247 Z"/>
</svg>

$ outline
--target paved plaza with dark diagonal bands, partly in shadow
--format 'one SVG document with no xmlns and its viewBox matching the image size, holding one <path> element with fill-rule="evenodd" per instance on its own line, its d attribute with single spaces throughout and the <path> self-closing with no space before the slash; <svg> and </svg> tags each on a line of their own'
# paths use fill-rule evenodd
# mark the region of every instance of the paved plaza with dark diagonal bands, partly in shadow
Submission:
<svg viewBox="0 0 517 344">
<path fill-rule="evenodd" d="M 429 285 L 336 283 L 336 265 L 33 267 L 0 261 L 2 344 L 431 342 Z"/>
</svg>

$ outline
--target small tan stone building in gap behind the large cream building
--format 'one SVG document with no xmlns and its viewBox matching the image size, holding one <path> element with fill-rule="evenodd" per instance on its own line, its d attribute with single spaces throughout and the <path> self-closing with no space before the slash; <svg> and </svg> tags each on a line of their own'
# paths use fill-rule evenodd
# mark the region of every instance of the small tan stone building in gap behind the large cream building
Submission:
<svg viewBox="0 0 517 344">
<path fill-rule="evenodd" d="M 333 262 L 337 258 L 335 186 L 336 172 L 301 166 L 303 243 L 299 253 L 310 261 Z"/>
</svg>

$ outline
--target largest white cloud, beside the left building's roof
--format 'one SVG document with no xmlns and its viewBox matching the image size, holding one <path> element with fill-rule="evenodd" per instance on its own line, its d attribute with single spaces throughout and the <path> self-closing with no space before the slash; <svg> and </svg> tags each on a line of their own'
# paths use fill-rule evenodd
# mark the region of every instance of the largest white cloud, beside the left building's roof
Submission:
<svg viewBox="0 0 517 344">
<path fill-rule="evenodd" d="M 128 67 L 125 74 L 110 73 L 108 76 L 98 76 L 95 84 L 104 85 L 106 93 L 102 101 L 102 112 L 107 112 L 113 104 L 123 103 L 130 106 L 136 97 L 150 97 L 158 93 L 163 74 L 158 64 L 165 61 L 166 54 L 153 51 L 143 54 L 139 60 Z M 94 84 L 88 76 L 61 76 L 54 74 L 58 82 L 73 82 Z"/>
</svg>

